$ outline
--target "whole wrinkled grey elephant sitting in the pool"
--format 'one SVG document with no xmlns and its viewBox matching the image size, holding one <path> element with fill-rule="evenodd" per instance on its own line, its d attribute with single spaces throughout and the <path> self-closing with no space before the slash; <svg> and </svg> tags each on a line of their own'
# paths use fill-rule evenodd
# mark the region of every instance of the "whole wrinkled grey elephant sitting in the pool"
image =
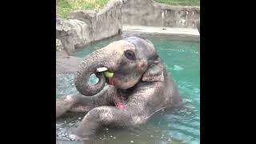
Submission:
<svg viewBox="0 0 256 144">
<path fill-rule="evenodd" d="M 132 50 L 134 57 L 127 58 L 126 50 Z M 102 88 L 105 82 L 109 83 L 108 78 L 96 73 L 100 66 L 114 72 L 114 85 L 107 90 Z M 94 86 L 87 84 L 90 74 L 99 78 Z M 74 82 L 80 94 L 68 95 L 56 102 L 56 118 L 67 111 L 89 111 L 73 132 L 76 139 L 89 138 L 102 126 L 139 126 L 156 111 L 182 103 L 181 94 L 168 76 L 154 45 L 137 37 L 112 42 L 86 56 Z M 125 109 L 114 105 L 116 99 L 121 99 Z"/>
</svg>

